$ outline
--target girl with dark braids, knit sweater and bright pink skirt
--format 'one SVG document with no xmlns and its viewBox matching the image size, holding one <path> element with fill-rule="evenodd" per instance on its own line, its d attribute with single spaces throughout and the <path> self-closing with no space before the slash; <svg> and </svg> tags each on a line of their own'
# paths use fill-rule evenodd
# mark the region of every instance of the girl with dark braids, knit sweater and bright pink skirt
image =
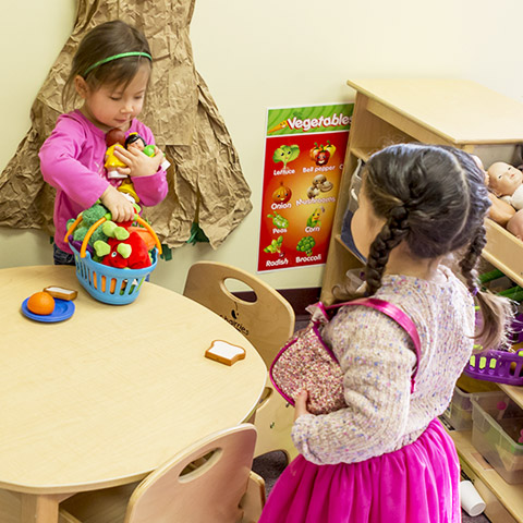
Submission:
<svg viewBox="0 0 523 523">
<path fill-rule="evenodd" d="M 394 145 L 366 163 L 358 205 L 351 228 L 367 260 L 366 294 L 411 317 L 421 356 L 379 311 L 339 309 L 323 338 L 344 373 L 346 408 L 313 415 L 302 391 L 292 429 L 300 455 L 259 521 L 457 523 L 460 464 L 438 416 L 474 343 L 503 344 L 512 315 L 509 301 L 477 281 L 490 206 L 484 173 L 459 149 Z M 484 318 L 478 333 L 474 299 Z"/>
</svg>

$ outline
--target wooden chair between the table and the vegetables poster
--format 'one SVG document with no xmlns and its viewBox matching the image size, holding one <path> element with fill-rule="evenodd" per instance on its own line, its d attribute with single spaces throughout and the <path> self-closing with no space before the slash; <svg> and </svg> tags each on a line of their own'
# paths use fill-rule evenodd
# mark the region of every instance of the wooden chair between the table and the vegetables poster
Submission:
<svg viewBox="0 0 523 523">
<path fill-rule="evenodd" d="M 240 281 L 255 301 L 232 294 L 226 280 Z M 259 278 L 218 262 L 197 262 L 187 273 L 183 294 L 232 324 L 256 348 L 267 368 L 294 332 L 294 311 L 289 302 Z M 275 390 L 270 379 L 256 409 L 258 439 L 254 455 L 282 450 L 290 461 L 297 454 L 291 440 L 294 409 Z"/>
</svg>

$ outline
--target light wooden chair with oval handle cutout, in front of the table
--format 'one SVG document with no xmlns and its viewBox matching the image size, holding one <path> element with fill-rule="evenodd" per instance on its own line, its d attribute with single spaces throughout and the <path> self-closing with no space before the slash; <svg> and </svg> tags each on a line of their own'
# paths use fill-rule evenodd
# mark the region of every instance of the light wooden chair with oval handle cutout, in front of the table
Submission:
<svg viewBox="0 0 523 523">
<path fill-rule="evenodd" d="M 264 479 L 251 471 L 255 442 L 256 428 L 251 424 L 210 435 L 137 486 L 78 494 L 63 501 L 60 521 L 254 523 L 265 503 Z"/>
</svg>

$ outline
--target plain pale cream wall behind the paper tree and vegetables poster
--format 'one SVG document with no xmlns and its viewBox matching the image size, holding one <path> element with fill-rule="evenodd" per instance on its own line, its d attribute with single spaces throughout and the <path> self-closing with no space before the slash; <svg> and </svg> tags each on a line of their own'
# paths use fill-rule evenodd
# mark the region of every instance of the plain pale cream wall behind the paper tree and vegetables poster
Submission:
<svg viewBox="0 0 523 523">
<path fill-rule="evenodd" d="M 74 0 L 1 3 L 0 169 L 29 126 L 32 101 L 76 7 Z M 255 272 L 268 107 L 350 101 L 351 76 L 464 77 L 521 100 L 522 16 L 521 0 L 196 0 L 196 68 L 238 148 L 254 210 L 218 251 L 174 251 L 153 280 L 180 291 L 188 267 L 202 258 Z M 46 234 L 0 228 L 0 268 L 51 260 Z M 321 273 L 314 267 L 263 278 L 278 289 L 316 287 Z"/>
</svg>

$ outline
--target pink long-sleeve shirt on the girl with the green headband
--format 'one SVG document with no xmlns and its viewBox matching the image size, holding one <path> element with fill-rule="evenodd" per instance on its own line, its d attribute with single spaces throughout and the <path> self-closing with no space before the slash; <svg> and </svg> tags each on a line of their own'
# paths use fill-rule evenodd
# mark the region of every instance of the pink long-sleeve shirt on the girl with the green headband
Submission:
<svg viewBox="0 0 523 523">
<path fill-rule="evenodd" d="M 138 133 L 147 144 L 155 144 L 150 129 L 136 119 L 127 131 L 131 133 Z M 106 133 L 78 110 L 60 115 L 40 148 L 41 174 L 57 190 L 54 242 L 66 253 L 71 253 L 64 242 L 68 220 L 94 205 L 109 184 L 118 186 L 121 182 L 107 179 L 106 149 Z M 149 177 L 134 177 L 133 184 L 144 206 L 159 204 L 168 192 L 166 171 L 161 168 Z"/>
</svg>

